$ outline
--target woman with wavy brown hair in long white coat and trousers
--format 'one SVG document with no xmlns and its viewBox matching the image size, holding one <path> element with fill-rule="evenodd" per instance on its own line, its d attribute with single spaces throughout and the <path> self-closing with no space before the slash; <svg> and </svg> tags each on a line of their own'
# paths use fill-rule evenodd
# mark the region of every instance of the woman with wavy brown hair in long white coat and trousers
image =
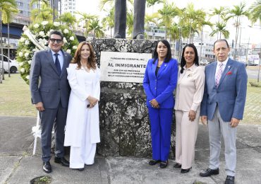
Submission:
<svg viewBox="0 0 261 184">
<path fill-rule="evenodd" d="M 84 170 L 95 161 L 99 138 L 99 68 L 89 42 L 80 42 L 68 69 L 71 94 L 64 146 L 71 146 L 70 168 Z"/>
</svg>

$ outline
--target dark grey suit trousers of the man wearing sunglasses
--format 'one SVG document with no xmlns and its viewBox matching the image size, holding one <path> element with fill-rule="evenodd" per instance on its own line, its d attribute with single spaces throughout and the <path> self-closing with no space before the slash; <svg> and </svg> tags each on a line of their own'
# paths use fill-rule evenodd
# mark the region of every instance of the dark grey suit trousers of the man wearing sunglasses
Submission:
<svg viewBox="0 0 261 184">
<path fill-rule="evenodd" d="M 59 158 L 64 156 L 64 127 L 66 125 L 67 108 L 61 106 L 56 109 L 47 109 L 40 113 L 41 117 L 41 142 L 42 161 L 51 159 L 51 132 L 54 127 L 55 155 Z"/>
</svg>

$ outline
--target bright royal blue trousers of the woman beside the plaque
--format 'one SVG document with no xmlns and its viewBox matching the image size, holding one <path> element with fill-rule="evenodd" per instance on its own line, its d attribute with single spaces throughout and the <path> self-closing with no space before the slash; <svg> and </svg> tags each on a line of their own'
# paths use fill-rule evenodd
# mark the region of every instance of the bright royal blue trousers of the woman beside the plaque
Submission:
<svg viewBox="0 0 261 184">
<path fill-rule="evenodd" d="M 148 108 L 152 134 L 152 159 L 166 161 L 171 145 L 173 108 Z"/>
</svg>

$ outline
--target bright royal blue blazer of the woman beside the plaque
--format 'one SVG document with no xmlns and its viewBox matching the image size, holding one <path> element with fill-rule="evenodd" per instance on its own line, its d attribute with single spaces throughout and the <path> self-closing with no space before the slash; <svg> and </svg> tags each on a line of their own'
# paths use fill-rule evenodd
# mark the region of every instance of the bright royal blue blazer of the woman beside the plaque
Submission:
<svg viewBox="0 0 261 184">
<path fill-rule="evenodd" d="M 147 62 L 143 79 L 143 88 L 147 96 L 147 107 L 152 108 L 150 100 L 156 99 L 159 108 L 174 108 L 173 91 L 176 88 L 178 79 L 178 62 L 171 59 L 168 63 L 163 63 L 156 76 L 158 59 L 154 62 L 150 59 Z"/>
</svg>

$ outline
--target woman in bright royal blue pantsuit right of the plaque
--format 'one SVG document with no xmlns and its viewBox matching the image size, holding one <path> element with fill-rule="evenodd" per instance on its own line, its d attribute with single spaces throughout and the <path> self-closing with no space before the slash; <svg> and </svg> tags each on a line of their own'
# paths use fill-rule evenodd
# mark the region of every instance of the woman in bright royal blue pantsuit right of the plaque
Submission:
<svg viewBox="0 0 261 184">
<path fill-rule="evenodd" d="M 178 62 L 171 58 L 171 47 L 166 40 L 160 40 L 154 50 L 154 58 L 147 62 L 143 88 L 147 96 L 151 134 L 151 166 L 160 163 L 168 165 L 171 144 L 171 122 L 174 108 L 173 91 L 178 78 Z"/>
</svg>

